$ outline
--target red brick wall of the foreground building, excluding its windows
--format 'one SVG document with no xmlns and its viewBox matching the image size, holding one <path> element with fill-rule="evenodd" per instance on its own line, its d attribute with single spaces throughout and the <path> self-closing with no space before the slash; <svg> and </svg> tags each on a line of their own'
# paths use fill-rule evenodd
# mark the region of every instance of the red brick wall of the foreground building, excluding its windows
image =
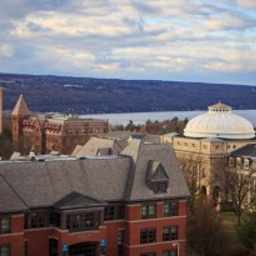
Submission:
<svg viewBox="0 0 256 256">
<path fill-rule="evenodd" d="M 68 230 L 57 228 L 38 228 L 23 231 L 23 216 L 12 217 L 11 234 L 0 235 L 0 244 L 11 244 L 11 256 L 22 255 L 23 240 L 27 240 L 28 256 L 46 256 L 49 251 L 49 238 L 57 238 L 59 244 L 59 256 L 62 255 L 63 244 L 76 244 L 82 242 L 97 242 L 101 239 L 107 241 L 106 256 L 117 255 L 118 229 L 125 228 L 126 256 L 140 256 L 141 253 L 156 252 L 156 256 L 162 256 L 164 250 L 175 248 L 173 241 L 163 242 L 163 227 L 176 225 L 178 229 L 178 242 L 180 244 L 180 256 L 186 255 L 187 232 L 187 204 L 185 201 L 179 204 L 180 216 L 163 217 L 163 203 L 156 204 L 157 219 L 141 220 L 140 204 L 127 205 L 127 219 L 123 221 L 107 221 L 99 230 L 81 233 L 69 233 Z M 140 230 L 142 228 L 156 228 L 156 243 L 140 244 Z"/>
</svg>

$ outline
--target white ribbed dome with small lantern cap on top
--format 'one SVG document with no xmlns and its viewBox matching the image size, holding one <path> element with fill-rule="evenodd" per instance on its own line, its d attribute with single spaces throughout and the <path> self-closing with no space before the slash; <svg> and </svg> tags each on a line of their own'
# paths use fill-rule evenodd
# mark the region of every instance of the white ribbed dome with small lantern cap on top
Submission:
<svg viewBox="0 0 256 256">
<path fill-rule="evenodd" d="M 184 135 L 193 138 L 252 139 L 253 125 L 245 118 L 232 113 L 223 103 L 212 105 L 209 111 L 191 119 Z"/>
</svg>

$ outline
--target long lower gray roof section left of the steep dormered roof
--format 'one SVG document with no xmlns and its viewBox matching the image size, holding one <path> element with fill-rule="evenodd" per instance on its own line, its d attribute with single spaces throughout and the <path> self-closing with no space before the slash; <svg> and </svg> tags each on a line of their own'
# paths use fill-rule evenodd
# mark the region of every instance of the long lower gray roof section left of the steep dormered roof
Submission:
<svg viewBox="0 0 256 256">
<path fill-rule="evenodd" d="M 8 162 L 0 164 L 0 177 L 10 183 L 29 208 L 54 205 L 71 191 L 99 201 L 122 201 L 130 164 L 131 159 L 128 157 Z M 14 207 L 23 209 L 18 197 L 9 196 L 10 191 L 13 195 L 13 191 L 6 184 L 5 189 L 2 187 L 0 212 Z M 17 207 L 13 206 L 12 198 L 17 200 Z"/>
</svg>

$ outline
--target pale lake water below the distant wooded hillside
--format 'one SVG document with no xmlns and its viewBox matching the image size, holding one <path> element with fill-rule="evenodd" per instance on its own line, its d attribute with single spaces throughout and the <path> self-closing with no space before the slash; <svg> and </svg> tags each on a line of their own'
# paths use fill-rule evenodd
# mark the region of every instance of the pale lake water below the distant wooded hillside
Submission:
<svg viewBox="0 0 256 256">
<path fill-rule="evenodd" d="M 234 113 L 248 119 L 254 126 L 256 126 L 256 110 L 233 110 Z M 126 125 L 130 120 L 134 124 L 145 124 L 150 119 L 151 121 L 164 121 L 172 119 L 177 116 L 179 119 L 191 119 L 206 111 L 162 111 L 162 112 L 145 112 L 145 113 L 122 113 L 122 114 L 95 114 L 95 115 L 82 115 L 83 118 L 99 118 L 108 119 L 110 124 L 123 124 Z"/>
</svg>

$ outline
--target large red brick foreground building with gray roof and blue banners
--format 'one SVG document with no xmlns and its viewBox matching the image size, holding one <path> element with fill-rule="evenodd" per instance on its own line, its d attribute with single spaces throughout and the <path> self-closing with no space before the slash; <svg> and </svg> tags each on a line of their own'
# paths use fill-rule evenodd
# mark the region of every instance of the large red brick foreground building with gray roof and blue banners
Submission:
<svg viewBox="0 0 256 256">
<path fill-rule="evenodd" d="M 169 143 L 0 161 L 0 254 L 185 256 L 187 197 Z"/>
</svg>

